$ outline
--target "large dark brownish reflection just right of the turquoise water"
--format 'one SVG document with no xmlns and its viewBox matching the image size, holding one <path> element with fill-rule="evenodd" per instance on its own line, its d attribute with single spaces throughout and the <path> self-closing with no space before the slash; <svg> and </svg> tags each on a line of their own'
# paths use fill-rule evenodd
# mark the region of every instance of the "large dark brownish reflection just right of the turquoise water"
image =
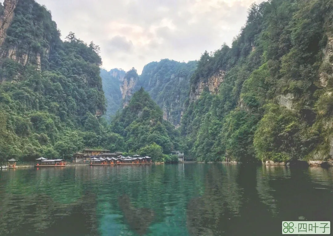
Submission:
<svg viewBox="0 0 333 236">
<path fill-rule="evenodd" d="M 203 195 L 191 199 L 187 205 L 189 235 L 220 235 L 228 220 L 238 214 L 241 206 L 241 189 L 236 182 L 238 169 L 237 165 L 211 165 L 206 171 Z"/>
</svg>

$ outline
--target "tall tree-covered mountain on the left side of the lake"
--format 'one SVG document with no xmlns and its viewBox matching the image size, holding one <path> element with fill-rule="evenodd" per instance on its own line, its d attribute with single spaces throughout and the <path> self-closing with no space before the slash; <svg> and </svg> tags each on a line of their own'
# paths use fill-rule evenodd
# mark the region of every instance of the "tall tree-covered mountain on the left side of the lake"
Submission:
<svg viewBox="0 0 333 236">
<path fill-rule="evenodd" d="M 50 12 L 33 0 L 12 7 L 0 47 L 0 162 L 71 157 L 104 145 L 98 46 L 73 33 L 62 42 Z"/>
</svg>

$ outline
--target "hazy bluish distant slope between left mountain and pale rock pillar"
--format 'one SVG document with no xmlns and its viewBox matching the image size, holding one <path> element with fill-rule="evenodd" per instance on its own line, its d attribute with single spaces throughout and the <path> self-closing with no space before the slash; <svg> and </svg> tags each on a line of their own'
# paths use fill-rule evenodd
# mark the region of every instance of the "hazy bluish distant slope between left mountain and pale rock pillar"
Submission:
<svg viewBox="0 0 333 236">
<path fill-rule="evenodd" d="M 122 104 L 123 95 L 120 89 L 123 86 L 125 74 L 126 72 L 122 69 L 112 69 L 110 71 L 101 69 L 100 75 L 107 103 L 105 113 L 107 120 L 110 120 L 110 117 L 116 114 Z"/>
</svg>

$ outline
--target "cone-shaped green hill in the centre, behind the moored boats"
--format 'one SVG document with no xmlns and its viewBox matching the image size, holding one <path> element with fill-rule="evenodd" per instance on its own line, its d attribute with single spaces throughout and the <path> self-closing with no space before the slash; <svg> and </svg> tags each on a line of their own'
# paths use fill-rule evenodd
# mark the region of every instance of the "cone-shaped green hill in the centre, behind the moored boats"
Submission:
<svg viewBox="0 0 333 236">
<path fill-rule="evenodd" d="M 143 88 L 135 92 L 128 105 L 116 114 L 110 132 L 123 137 L 122 150 L 150 155 L 154 161 L 170 160 L 167 154 L 171 150 L 183 148 L 179 131 L 163 120 L 161 108 Z"/>
</svg>

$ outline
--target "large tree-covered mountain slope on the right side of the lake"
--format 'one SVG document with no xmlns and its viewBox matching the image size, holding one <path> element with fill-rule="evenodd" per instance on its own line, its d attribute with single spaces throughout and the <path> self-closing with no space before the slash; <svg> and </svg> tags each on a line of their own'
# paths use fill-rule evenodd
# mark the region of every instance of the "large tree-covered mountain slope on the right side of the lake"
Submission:
<svg viewBox="0 0 333 236">
<path fill-rule="evenodd" d="M 205 52 L 187 104 L 182 135 L 198 160 L 325 160 L 333 155 L 331 0 L 253 4 L 232 47 Z M 201 86 L 202 87 L 202 86 Z"/>
</svg>

